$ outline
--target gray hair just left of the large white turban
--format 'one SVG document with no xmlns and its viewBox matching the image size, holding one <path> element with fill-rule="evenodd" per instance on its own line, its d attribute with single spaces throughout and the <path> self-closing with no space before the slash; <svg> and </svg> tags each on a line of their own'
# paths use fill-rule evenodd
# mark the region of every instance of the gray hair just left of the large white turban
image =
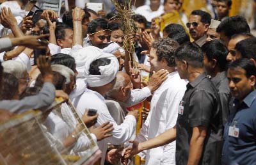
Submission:
<svg viewBox="0 0 256 165">
<path fill-rule="evenodd" d="M 75 73 L 70 68 L 64 65 L 54 64 L 54 65 L 51 65 L 51 67 L 53 71 L 59 72 L 61 75 L 63 75 L 66 78 L 65 84 L 70 83 L 70 75 L 72 76 L 75 75 Z"/>
</svg>

